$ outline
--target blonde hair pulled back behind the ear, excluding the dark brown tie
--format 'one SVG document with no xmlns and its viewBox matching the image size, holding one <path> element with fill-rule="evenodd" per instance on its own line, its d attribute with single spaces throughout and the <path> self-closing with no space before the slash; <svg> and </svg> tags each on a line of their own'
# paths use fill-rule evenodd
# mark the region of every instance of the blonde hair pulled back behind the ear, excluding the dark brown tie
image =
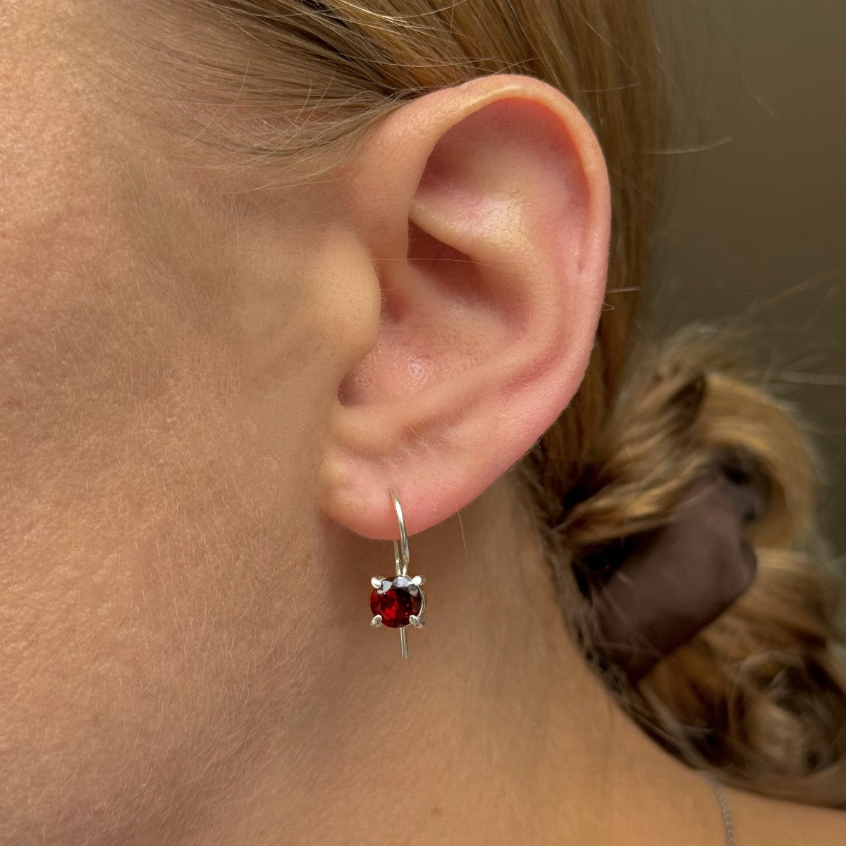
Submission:
<svg viewBox="0 0 846 846">
<path fill-rule="evenodd" d="M 846 805 L 846 670 L 832 651 L 846 640 L 843 589 L 811 524 L 805 439 L 713 332 L 630 349 L 668 114 L 648 3 L 180 0 L 174 8 L 190 19 L 190 36 L 171 39 L 166 25 L 143 36 L 157 64 L 173 70 L 162 89 L 170 86 L 172 102 L 237 96 L 235 112 L 201 126 L 200 140 L 278 179 L 330 173 L 398 105 L 481 74 L 530 74 L 580 108 L 612 185 L 608 308 L 580 391 L 516 474 L 564 617 L 621 706 L 678 758 L 761 794 Z M 632 686 L 597 660 L 580 557 L 667 523 L 716 449 L 738 453 L 766 480 L 768 508 L 750 528 L 755 582 Z"/>
</svg>

